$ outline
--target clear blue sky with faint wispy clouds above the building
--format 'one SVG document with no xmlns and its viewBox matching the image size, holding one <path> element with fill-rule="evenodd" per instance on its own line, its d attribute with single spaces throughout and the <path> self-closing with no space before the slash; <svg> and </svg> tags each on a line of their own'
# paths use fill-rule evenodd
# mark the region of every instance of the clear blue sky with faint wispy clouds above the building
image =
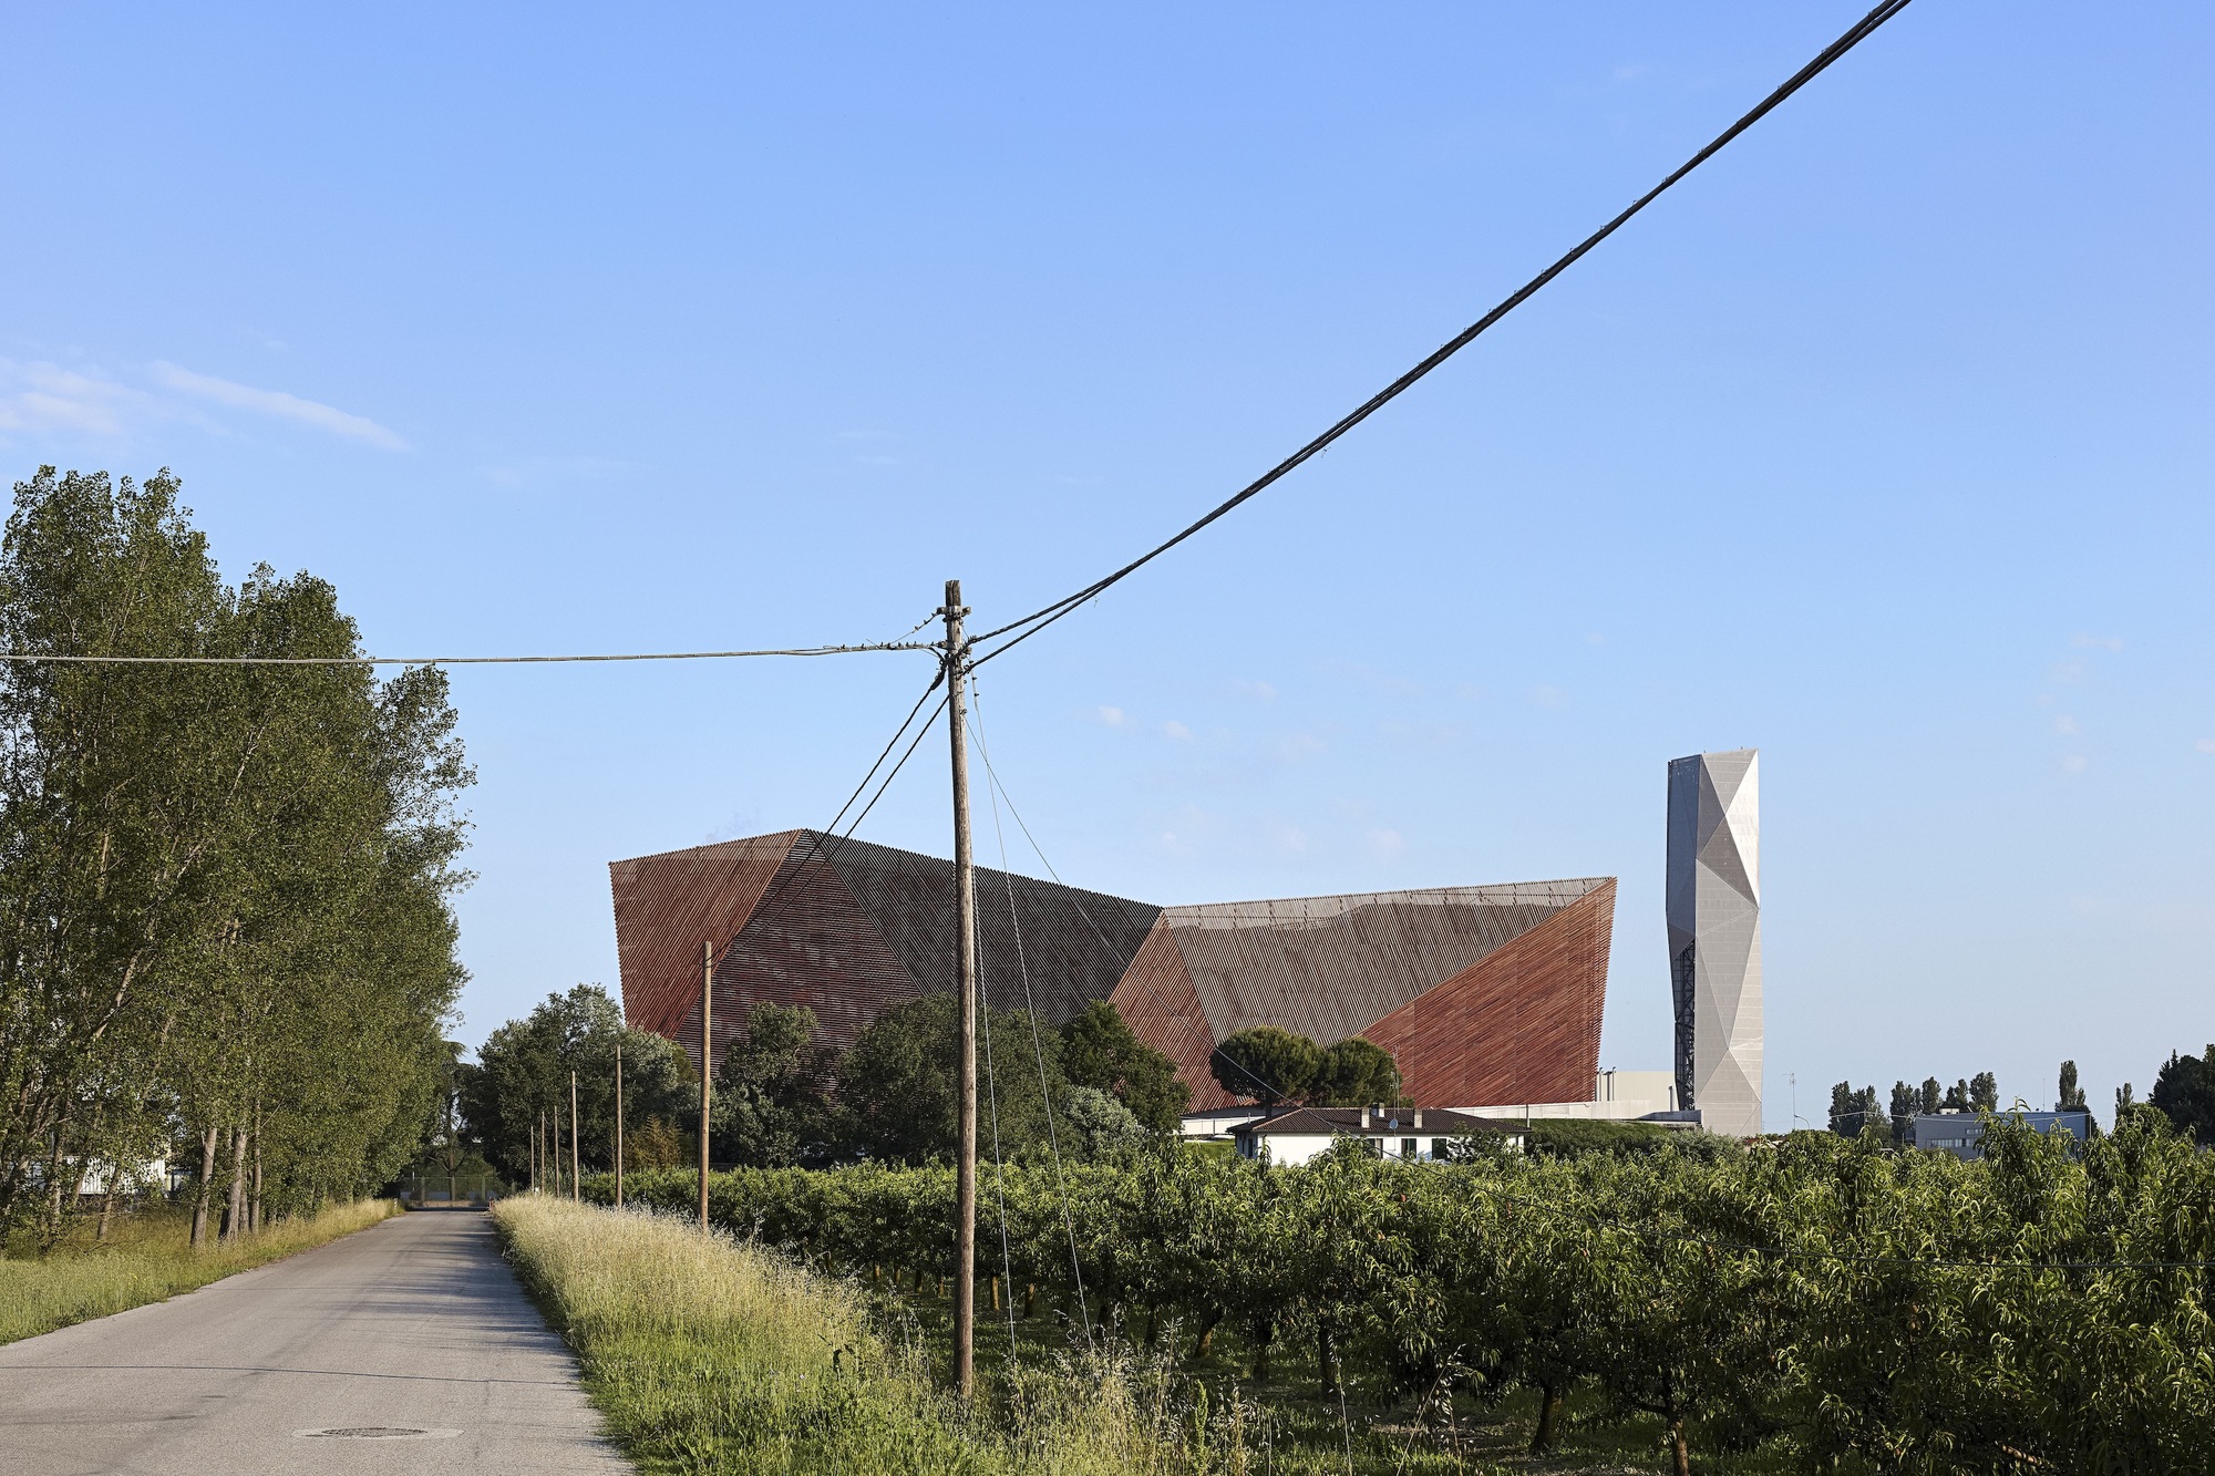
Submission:
<svg viewBox="0 0 2215 1476">
<path fill-rule="evenodd" d="M 326 7 L 328 9 L 328 7 Z M 175 468 L 379 652 L 893 636 L 1083 585 L 1856 4 L 11 7 L 0 465 Z M 1263 501 L 983 674 L 1063 878 L 1621 878 L 1763 749 L 1770 1124 L 2215 1037 L 2215 13 L 1925 0 Z M 824 824 L 917 656 L 456 676 L 463 1035 L 605 862 Z M 866 836 L 946 849 L 944 758 Z M 986 831 L 986 853 L 992 851 Z M 1021 867 L 1019 867 L 1021 869 Z"/>
</svg>

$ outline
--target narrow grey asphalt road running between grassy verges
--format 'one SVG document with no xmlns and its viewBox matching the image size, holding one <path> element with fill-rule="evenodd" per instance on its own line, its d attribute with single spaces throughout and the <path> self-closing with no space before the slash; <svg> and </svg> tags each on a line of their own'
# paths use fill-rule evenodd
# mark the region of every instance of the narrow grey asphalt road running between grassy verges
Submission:
<svg viewBox="0 0 2215 1476">
<path fill-rule="evenodd" d="M 306 1434 L 317 1429 L 423 1434 Z M 403 1214 L 0 1347 L 7 1476 L 629 1472 L 483 1214 Z"/>
</svg>

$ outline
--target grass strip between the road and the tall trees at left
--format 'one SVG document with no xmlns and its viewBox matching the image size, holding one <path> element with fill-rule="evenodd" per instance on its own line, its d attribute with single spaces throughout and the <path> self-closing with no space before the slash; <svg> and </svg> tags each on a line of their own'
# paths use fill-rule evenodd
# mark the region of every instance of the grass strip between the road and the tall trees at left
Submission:
<svg viewBox="0 0 2215 1476">
<path fill-rule="evenodd" d="M 308 1219 L 286 1219 L 233 1246 L 195 1252 L 190 1219 L 171 1208 L 142 1210 L 115 1221 L 102 1243 L 64 1243 L 44 1257 L 0 1261 L 0 1343 L 38 1336 L 148 1301 L 168 1301 L 312 1250 L 341 1234 L 365 1230 L 399 1212 L 390 1199 L 330 1206 Z"/>
</svg>

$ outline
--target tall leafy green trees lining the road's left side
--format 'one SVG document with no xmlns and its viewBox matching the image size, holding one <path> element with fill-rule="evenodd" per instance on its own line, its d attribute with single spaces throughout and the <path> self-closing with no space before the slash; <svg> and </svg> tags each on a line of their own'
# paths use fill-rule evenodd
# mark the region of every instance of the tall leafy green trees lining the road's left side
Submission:
<svg viewBox="0 0 2215 1476">
<path fill-rule="evenodd" d="M 16 483 L 0 649 L 359 656 L 330 583 L 230 585 L 166 470 Z M 374 1190 L 454 1048 L 470 782 L 445 676 L 0 663 L 0 1232 L 164 1161 L 193 1241 Z"/>
</svg>

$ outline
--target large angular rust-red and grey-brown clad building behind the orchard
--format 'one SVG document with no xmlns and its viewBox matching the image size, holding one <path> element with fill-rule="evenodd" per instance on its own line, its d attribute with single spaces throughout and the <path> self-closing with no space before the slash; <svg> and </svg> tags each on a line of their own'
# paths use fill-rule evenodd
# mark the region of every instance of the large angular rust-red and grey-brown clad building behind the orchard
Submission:
<svg viewBox="0 0 2215 1476">
<path fill-rule="evenodd" d="M 952 988 L 952 862 L 780 831 L 609 867 L 622 1006 L 700 1059 L 758 1002 L 804 1004 L 844 1048 L 877 1011 Z M 1615 878 L 1156 906 L 977 869 L 979 966 L 997 1008 L 1063 1024 L 1112 1002 L 1192 1086 L 1225 1035 L 1362 1035 L 1424 1104 L 1582 1101 L 1599 1070 Z"/>
</svg>

